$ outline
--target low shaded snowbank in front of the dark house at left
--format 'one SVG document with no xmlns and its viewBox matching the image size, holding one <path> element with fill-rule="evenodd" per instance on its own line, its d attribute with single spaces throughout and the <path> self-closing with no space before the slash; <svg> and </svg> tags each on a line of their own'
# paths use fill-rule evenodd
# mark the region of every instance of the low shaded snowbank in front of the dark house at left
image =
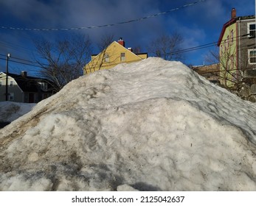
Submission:
<svg viewBox="0 0 256 206">
<path fill-rule="evenodd" d="M 0 122 L 11 122 L 30 112 L 35 104 L 18 102 L 0 102 Z"/>
</svg>

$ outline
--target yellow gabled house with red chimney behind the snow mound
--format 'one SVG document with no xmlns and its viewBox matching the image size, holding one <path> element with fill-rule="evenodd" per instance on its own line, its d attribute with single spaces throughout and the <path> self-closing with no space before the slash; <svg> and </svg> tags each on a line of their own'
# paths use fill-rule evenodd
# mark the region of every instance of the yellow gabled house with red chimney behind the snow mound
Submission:
<svg viewBox="0 0 256 206">
<path fill-rule="evenodd" d="M 120 63 L 133 63 L 148 58 L 147 53 L 134 54 L 131 48 L 125 48 L 125 41 L 112 42 L 100 54 L 92 55 L 91 61 L 83 68 L 83 74 L 90 74 L 100 69 L 113 68 Z"/>
</svg>

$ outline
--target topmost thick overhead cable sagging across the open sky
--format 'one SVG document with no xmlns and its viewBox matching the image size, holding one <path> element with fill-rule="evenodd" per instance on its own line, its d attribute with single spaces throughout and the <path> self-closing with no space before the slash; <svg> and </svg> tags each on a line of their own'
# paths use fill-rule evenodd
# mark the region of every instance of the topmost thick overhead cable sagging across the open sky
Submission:
<svg viewBox="0 0 256 206">
<path fill-rule="evenodd" d="M 136 21 L 142 21 L 142 20 L 145 20 L 145 19 L 148 19 L 148 18 L 154 18 L 154 17 L 157 17 L 159 15 L 166 15 L 167 13 L 171 13 L 171 12 L 176 11 L 176 10 L 181 10 L 185 7 L 191 7 L 193 5 L 196 5 L 196 4 L 204 2 L 204 1 L 207 1 L 207 0 L 199 0 L 199 1 L 196 1 L 196 2 L 193 2 L 193 3 L 190 3 L 190 4 L 184 4 L 183 6 L 176 7 L 172 10 L 167 10 L 166 12 L 156 13 L 156 14 L 153 14 L 153 15 L 148 15 L 148 16 L 142 17 L 142 18 L 136 18 L 136 19 L 129 20 L 129 21 L 122 21 L 122 22 L 118 22 L 118 23 L 115 23 L 115 24 L 105 24 L 105 25 L 100 25 L 100 26 L 82 26 L 82 27 L 74 27 L 74 28 L 52 28 L 52 29 L 38 29 L 38 28 L 30 29 L 30 28 L 10 27 L 10 26 L 1 26 L 0 28 L 1 29 L 12 29 L 12 30 L 25 30 L 25 31 L 43 31 L 43 32 L 46 32 L 46 31 L 69 31 L 69 30 L 81 30 L 81 29 L 96 29 L 96 28 L 117 26 L 117 25 L 120 25 L 120 24 L 129 24 L 129 23 L 136 22 Z"/>
</svg>

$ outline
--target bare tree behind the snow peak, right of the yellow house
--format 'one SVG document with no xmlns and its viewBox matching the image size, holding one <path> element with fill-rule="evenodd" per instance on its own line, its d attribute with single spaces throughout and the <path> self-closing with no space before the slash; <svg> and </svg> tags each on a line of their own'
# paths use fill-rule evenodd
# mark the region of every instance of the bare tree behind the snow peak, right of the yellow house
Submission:
<svg viewBox="0 0 256 206">
<path fill-rule="evenodd" d="M 171 35 L 164 34 L 151 42 L 148 46 L 148 52 L 165 60 L 181 60 L 182 54 L 179 50 L 183 41 L 183 38 L 177 32 Z"/>
</svg>

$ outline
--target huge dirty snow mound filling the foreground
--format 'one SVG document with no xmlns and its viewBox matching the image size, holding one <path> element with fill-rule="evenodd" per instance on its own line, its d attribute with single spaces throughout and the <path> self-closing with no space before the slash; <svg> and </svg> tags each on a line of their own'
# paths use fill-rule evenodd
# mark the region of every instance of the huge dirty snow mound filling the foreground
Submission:
<svg viewBox="0 0 256 206">
<path fill-rule="evenodd" d="M 1 191 L 256 191 L 256 104 L 179 62 L 80 77 L 0 129 Z"/>
</svg>

